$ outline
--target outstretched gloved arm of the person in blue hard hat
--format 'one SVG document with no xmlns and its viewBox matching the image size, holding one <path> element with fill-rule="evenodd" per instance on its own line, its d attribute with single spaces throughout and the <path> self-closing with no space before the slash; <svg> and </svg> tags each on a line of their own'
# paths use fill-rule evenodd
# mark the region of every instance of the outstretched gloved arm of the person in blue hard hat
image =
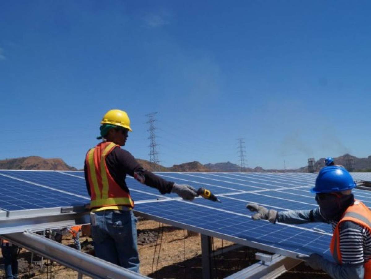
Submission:
<svg viewBox="0 0 371 279">
<path fill-rule="evenodd" d="M 313 210 L 292 210 L 292 211 L 276 211 L 268 210 L 262 205 L 247 204 L 246 208 L 252 212 L 256 212 L 252 216 L 253 220 L 268 220 L 271 223 L 286 223 L 286 224 L 304 224 L 310 222 L 325 222 L 328 223 L 319 213 L 319 208 Z"/>
</svg>

